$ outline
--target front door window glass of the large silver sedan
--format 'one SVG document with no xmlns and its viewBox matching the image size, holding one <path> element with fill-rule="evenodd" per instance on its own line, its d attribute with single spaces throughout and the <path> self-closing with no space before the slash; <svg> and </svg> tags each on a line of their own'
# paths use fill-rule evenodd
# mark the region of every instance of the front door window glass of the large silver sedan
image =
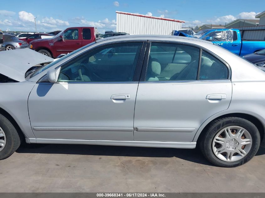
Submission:
<svg viewBox="0 0 265 198">
<path fill-rule="evenodd" d="M 58 82 L 132 81 L 142 43 L 113 44 L 75 59 L 60 71 Z"/>
</svg>

